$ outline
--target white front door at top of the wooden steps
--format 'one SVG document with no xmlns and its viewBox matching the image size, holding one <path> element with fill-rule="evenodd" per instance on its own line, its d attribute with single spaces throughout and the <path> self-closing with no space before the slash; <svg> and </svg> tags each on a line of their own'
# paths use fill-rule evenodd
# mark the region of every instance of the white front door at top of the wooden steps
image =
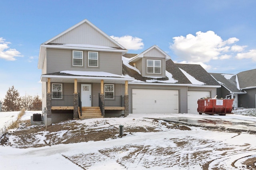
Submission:
<svg viewBox="0 0 256 170">
<path fill-rule="evenodd" d="M 92 106 L 92 84 L 81 84 L 82 107 Z"/>
</svg>

